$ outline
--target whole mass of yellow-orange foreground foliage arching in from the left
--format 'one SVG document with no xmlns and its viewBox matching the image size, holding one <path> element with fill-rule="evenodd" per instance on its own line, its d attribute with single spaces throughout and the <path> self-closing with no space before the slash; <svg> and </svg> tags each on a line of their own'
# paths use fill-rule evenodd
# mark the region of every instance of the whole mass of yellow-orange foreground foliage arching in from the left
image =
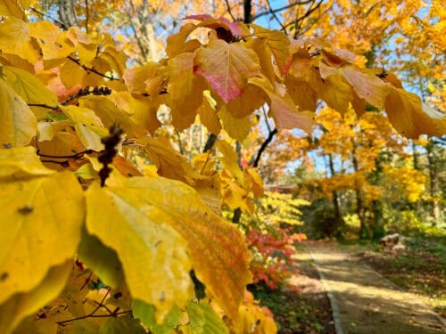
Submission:
<svg viewBox="0 0 446 334">
<path fill-rule="evenodd" d="M 392 73 L 324 40 L 196 15 L 165 58 L 128 68 L 111 35 L 29 21 L 30 4 L 0 2 L 2 333 L 275 331 L 245 297 L 250 253 L 219 212 L 250 213 L 259 176 L 223 140 L 187 161 L 156 134 L 158 110 L 239 142 L 261 106 L 277 130 L 310 132 L 320 100 L 385 110 L 410 137 L 445 133 Z M 199 28 L 207 38 L 190 38 Z"/>
</svg>

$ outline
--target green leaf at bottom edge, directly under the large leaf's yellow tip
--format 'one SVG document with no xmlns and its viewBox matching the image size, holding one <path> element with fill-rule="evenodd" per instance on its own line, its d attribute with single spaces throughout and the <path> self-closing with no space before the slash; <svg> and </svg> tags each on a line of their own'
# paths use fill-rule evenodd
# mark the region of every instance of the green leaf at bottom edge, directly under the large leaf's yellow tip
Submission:
<svg viewBox="0 0 446 334">
<path fill-rule="evenodd" d="M 183 317 L 183 311 L 177 305 L 173 305 L 164 321 L 159 324 L 156 322 L 154 306 L 138 299 L 133 301 L 132 310 L 135 319 L 143 323 L 153 334 L 173 333 L 173 330 L 178 327 L 178 323 Z"/>
</svg>

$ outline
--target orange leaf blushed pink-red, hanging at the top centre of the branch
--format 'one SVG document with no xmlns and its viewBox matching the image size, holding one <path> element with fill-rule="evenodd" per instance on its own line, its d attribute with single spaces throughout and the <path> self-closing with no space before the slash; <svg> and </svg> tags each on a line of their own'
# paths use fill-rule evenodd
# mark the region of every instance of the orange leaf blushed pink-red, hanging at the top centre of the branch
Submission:
<svg viewBox="0 0 446 334">
<path fill-rule="evenodd" d="M 244 45 L 218 39 L 195 53 L 195 74 L 205 77 L 225 102 L 242 95 L 259 70 L 259 58 Z"/>
</svg>

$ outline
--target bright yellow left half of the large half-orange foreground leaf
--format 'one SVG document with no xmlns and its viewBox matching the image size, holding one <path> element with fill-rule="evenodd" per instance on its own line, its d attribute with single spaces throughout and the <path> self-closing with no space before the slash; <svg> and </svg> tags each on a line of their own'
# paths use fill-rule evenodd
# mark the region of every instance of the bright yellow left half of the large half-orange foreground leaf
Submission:
<svg viewBox="0 0 446 334">
<path fill-rule="evenodd" d="M 132 297 L 153 304 L 159 319 L 173 303 L 186 305 L 193 296 L 192 265 L 186 240 L 171 227 L 169 212 L 151 205 L 150 197 L 160 195 L 98 183 L 86 195 L 87 230 L 116 251 Z"/>
</svg>

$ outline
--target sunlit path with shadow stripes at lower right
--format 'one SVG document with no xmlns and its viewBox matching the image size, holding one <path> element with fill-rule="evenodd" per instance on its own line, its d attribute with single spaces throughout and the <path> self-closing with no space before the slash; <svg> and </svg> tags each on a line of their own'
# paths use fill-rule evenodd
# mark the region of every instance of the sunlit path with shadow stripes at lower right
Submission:
<svg viewBox="0 0 446 334">
<path fill-rule="evenodd" d="M 330 298 L 337 334 L 446 333 L 445 323 L 415 295 L 358 260 L 335 243 L 308 241 Z"/>
</svg>

